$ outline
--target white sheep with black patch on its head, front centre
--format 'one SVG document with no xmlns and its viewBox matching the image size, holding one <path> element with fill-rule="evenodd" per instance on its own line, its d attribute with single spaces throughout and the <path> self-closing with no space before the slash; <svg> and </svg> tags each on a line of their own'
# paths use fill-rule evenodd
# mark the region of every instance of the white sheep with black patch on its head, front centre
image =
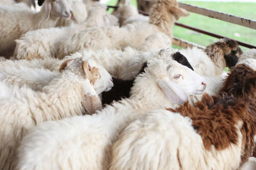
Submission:
<svg viewBox="0 0 256 170">
<path fill-rule="evenodd" d="M 204 89 L 204 79 L 198 74 L 170 55 L 159 55 L 148 60 L 145 73 L 136 77 L 129 99 L 108 105 L 92 116 L 45 122 L 29 132 L 19 147 L 17 168 L 107 169 L 109 147 L 129 122 L 145 110 L 169 104 L 175 107 L 186 101 L 188 94 Z"/>
</svg>

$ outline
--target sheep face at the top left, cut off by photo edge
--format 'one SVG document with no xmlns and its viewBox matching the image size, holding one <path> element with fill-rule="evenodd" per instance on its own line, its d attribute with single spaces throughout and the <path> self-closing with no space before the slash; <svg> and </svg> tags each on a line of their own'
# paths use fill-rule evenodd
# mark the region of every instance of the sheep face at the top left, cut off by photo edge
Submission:
<svg viewBox="0 0 256 170">
<path fill-rule="evenodd" d="M 67 0 L 48 0 L 45 1 L 45 10 L 47 13 L 47 20 L 51 17 L 70 18 L 72 16 L 72 8 Z"/>
</svg>

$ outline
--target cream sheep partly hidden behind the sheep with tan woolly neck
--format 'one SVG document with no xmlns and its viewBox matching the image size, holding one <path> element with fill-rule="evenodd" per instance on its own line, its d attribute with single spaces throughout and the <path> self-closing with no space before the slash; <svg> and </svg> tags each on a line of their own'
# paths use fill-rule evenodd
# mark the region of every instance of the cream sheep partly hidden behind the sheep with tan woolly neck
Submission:
<svg viewBox="0 0 256 170">
<path fill-rule="evenodd" d="M 108 22 L 106 8 L 97 6 L 89 11 L 86 21 L 81 24 L 29 31 L 15 40 L 14 57 L 28 60 L 56 57 L 58 46 L 70 32 L 78 32 L 86 27 L 104 26 Z"/>
</svg>

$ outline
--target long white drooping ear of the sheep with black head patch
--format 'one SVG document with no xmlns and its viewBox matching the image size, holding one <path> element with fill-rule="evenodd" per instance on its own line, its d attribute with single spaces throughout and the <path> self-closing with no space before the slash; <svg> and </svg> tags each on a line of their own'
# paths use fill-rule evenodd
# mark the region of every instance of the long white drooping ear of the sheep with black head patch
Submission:
<svg viewBox="0 0 256 170">
<path fill-rule="evenodd" d="M 178 85 L 168 79 L 157 81 L 158 86 L 163 90 L 164 95 L 175 104 L 183 104 L 188 101 L 188 96 Z"/>
</svg>

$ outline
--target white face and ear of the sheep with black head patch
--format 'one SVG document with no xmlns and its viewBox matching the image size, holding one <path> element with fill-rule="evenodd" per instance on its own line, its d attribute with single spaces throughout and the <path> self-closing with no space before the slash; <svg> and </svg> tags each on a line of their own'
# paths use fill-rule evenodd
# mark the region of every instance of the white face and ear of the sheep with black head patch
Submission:
<svg viewBox="0 0 256 170">
<path fill-rule="evenodd" d="M 148 67 L 145 69 L 154 74 L 164 95 L 172 103 L 182 104 L 188 101 L 188 95 L 202 94 L 206 87 L 204 78 L 170 56 L 173 56 L 172 49 L 161 50 L 158 59 L 148 60 Z"/>
</svg>

